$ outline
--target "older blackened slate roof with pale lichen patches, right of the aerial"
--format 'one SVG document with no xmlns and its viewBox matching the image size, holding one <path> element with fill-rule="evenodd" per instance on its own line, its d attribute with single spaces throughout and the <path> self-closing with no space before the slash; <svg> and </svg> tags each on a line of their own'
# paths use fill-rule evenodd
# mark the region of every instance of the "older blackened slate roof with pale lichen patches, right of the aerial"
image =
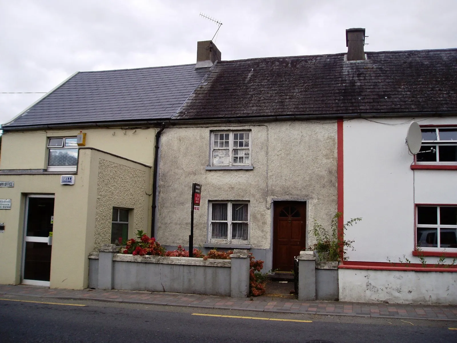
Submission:
<svg viewBox="0 0 457 343">
<path fill-rule="evenodd" d="M 457 49 L 221 61 L 175 119 L 457 111 Z"/>
</svg>

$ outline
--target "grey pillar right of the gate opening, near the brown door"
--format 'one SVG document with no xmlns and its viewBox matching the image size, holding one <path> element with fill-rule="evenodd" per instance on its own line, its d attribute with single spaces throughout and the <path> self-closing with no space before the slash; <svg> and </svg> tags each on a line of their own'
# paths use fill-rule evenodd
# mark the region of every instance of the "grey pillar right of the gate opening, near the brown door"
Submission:
<svg viewBox="0 0 457 343">
<path fill-rule="evenodd" d="M 316 257 L 301 251 L 298 257 L 298 300 L 316 300 Z"/>
</svg>

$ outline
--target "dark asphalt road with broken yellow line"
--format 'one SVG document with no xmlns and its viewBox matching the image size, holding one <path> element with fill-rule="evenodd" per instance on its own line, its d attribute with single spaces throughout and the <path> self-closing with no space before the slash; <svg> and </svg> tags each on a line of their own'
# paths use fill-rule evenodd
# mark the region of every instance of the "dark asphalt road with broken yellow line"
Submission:
<svg viewBox="0 0 457 343">
<path fill-rule="evenodd" d="M 457 342 L 457 330 L 449 327 L 457 327 L 457 322 L 206 311 L 37 298 L 0 300 L 2 343 Z"/>
</svg>

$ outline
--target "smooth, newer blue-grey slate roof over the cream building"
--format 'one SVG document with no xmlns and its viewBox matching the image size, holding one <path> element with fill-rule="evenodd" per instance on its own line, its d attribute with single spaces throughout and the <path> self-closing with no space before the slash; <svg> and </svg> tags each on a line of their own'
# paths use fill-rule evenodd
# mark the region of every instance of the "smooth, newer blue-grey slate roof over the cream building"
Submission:
<svg viewBox="0 0 457 343">
<path fill-rule="evenodd" d="M 187 64 L 79 72 L 3 128 L 170 118 L 207 71 Z"/>
</svg>

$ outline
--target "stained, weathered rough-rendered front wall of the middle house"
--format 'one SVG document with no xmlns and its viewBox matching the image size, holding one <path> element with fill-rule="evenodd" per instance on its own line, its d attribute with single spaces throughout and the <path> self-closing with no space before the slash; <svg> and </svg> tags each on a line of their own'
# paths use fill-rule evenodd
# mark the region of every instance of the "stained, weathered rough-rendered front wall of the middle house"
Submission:
<svg viewBox="0 0 457 343">
<path fill-rule="evenodd" d="M 205 170 L 212 130 L 252 130 L 254 170 Z M 161 139 L 161 244 L 187 245 L 192 182 L 202 184 L 194 247 L 207 242 L 208 200 L 250 201 L 250 245 L 255 249 L 271 249 L 272 200 L 308 201 L 307 231 L 314 218 L 328 225 L 336 212 L 335 122 L 165 129 Z"/>
</svg>

